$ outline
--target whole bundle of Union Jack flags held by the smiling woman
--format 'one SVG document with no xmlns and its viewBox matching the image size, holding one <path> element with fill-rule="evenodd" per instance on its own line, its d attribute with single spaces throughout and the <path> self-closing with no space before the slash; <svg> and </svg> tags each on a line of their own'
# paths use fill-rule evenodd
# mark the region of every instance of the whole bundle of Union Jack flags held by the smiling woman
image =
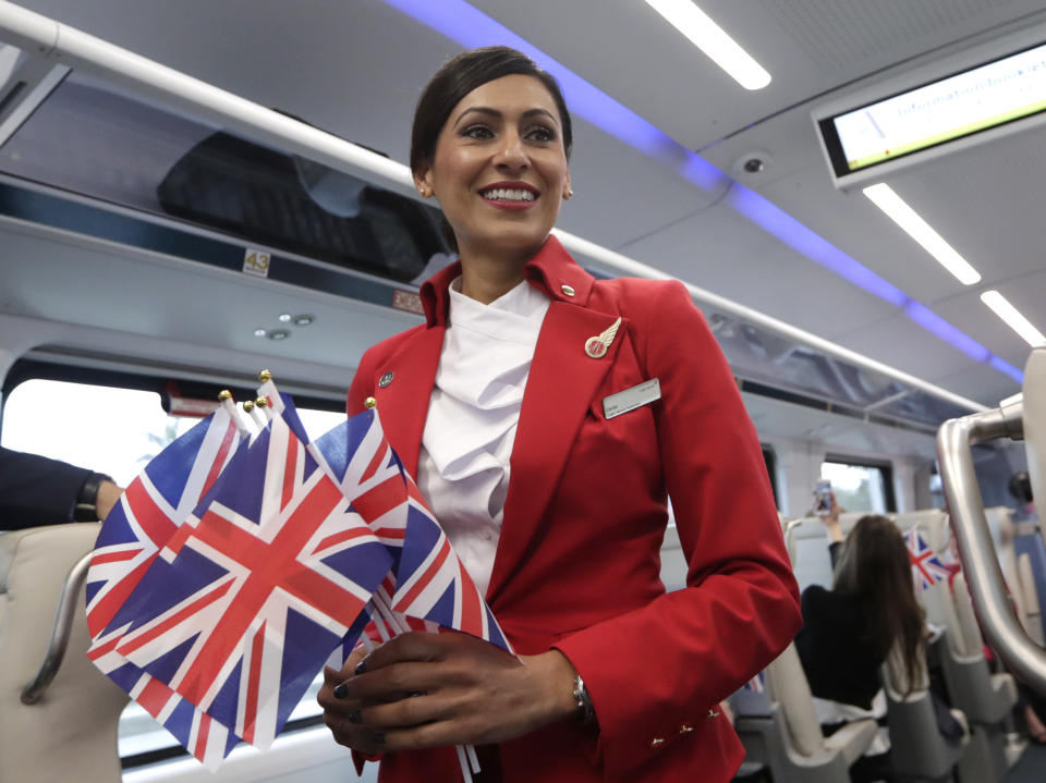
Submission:
<svg viewBox="0 0 1046 783">
<path fill-rule="evenodd" d="M 241 739 L 268 748 L 368 634 L 446 628 L 510 650 L 377 411 L 313 442 L 263 379 L 254 427 L 227 397 L 149 462 L 87 575 L 88 657 L 211 769 Z"/>
</svg>

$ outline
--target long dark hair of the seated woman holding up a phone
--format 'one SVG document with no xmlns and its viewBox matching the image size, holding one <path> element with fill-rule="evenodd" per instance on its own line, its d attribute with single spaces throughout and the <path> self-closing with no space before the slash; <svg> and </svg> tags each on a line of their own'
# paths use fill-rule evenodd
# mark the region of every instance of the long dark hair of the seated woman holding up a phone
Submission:
<svg viewBox="0 0 1046 783">
<path fill-rule="evenodd" d="M 886 660 L 897 647 L 910 694 L 921 678 L 926 615 L 915 599 L 904 537 L 887 517 L 858 519 L 836 567 L 835 589 L 861 605 L 867 623 L 864 641 L 877 658 Z"/>
</svg>

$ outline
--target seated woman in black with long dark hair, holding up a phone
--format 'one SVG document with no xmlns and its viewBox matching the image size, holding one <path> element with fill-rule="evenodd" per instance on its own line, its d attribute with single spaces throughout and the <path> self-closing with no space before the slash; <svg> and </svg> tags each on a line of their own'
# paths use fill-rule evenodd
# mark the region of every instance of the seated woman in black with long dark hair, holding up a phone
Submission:
<svg viewBox="0 0 1046 783">
<path fill-rule="evenodd" d="M 904 537 L 878 514 L 862 516 L 844 537 L 839 512 L 832 496 L 824 517 L 835 566 L 832 589 L 812 585 L 803 590 L 803 627 L 795 636 L 810 689 L 825 700 L 817 706 L 826 733 L 848 720 L 876 715 L 872 700 L 891 652 L 909 689 L 923 680 L 925 613 L 915 598 Z M 855 782 L 892 780 L 885 733 L 850 774 Z"/>
</svg>

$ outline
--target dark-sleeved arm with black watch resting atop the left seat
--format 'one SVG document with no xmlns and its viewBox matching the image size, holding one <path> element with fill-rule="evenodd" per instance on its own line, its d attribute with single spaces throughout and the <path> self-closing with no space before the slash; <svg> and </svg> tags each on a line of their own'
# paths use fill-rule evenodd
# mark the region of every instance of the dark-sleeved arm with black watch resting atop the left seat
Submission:
<svg viewBox="0 0 1046 783">
<path fill-rule="evenodd" d="M 105 474 L 0 448 L 0 530 L 105 519 L 122 492 Z"/>
</svg>

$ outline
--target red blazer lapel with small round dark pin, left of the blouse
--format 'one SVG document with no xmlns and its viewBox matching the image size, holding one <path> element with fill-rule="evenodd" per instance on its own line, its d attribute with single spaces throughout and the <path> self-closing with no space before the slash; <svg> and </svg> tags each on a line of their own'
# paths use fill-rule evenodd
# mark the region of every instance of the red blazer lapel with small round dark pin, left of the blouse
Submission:
<svg viewBox="0 0 1046 783">
<path fill-rule="evenodd" d="M 442 326 L 430 327 L 408 342 L 375 370 L 374 399 L 381 416 L 386 439 L 396 449 L 403 466 L 417 478 L 422 433 L 433 397 L 439 354 L 443 346 Z M 382 387 L 380 380 L 392 374 Z"/>
</svg>

